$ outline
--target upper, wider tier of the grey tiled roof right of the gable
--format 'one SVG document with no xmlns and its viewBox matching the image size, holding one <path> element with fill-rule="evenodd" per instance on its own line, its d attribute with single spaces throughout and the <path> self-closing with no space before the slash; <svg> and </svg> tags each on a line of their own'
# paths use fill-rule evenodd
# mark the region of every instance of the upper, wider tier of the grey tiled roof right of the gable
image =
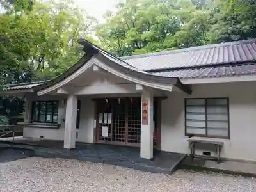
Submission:
<svg viewBox="0 0 256 192">
<path fill-rule="evenodd" d="M 256 39 L 127 56 L 122 60 L 145 71 L 255 61 Z"/>
</svg>

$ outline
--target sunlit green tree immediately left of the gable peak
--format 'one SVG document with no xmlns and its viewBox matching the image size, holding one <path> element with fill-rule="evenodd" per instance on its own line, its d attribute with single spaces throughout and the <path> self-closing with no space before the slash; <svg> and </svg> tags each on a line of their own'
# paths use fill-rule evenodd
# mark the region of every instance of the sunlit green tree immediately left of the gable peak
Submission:
<svg viewBox="0 0 256 192">
<path fill-rule="evenodd" d="M 50 1 L 43 5 L 35 6 L 33 14 L 37 14 L 44 29 L 31 58 L 36 69 L 35 79 L 51 79 L 76 63 L 81 56 L 77 40 L 81 36 L 90 38 L 97 23 L 72 1 Z"/>
</svg>

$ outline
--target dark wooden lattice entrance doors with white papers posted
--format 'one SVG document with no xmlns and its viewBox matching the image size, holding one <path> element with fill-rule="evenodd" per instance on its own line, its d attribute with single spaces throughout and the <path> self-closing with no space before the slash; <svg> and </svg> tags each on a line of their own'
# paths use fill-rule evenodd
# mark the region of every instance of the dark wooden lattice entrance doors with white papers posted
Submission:
<svg viewBox="0 0 256 192">
<path fill-rule="evenodd" d="M 97 143 L 140 147 L 141 98 L 97 99 Z M 157 146 L 158 100 L 154 101 L 154 145 Z"/>
</svg>

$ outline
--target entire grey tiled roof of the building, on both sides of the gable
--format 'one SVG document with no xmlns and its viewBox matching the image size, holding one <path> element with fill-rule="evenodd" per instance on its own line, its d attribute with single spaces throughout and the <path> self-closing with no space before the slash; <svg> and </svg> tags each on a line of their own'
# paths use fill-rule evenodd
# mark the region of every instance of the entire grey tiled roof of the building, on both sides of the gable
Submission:
<svg viewBox="0 0 256 192">
<path fill-rule="evenodd" d="M 141 74 L 180 79 L 256 75 L 256 39 L 122 58 L 116 58 L 93 44 L 91 46 L 109 60 Z M 28 89 L 45 82 L 5 87 L 7 90 Z"/>
</svg>

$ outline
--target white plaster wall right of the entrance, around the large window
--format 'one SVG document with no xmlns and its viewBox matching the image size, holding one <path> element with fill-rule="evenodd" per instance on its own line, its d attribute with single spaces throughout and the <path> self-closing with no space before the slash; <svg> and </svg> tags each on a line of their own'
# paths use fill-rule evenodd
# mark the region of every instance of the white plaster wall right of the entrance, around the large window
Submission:
<svg viewBox="0 0 256 192">
<path fill-rule="evenodd" d="M 200 139 L 224 141 L 221 157 L 256 161 L 255 85 L 255 82 L 196 84 L 192 87 L 192 95 L 169 93 L 168 99 L 162 102 L 162 150 L 189 154 L 188 137 L 184 136 L 184 98 L 228 97 L 230 105 L 230 140 Z M 202 151 L 197 149 L 196 154 L 202 155 Z M 211 150 L 204 148 L 204 151 Z M 216 156 L 212 151 L 211 154 Z"/>
</svg>

